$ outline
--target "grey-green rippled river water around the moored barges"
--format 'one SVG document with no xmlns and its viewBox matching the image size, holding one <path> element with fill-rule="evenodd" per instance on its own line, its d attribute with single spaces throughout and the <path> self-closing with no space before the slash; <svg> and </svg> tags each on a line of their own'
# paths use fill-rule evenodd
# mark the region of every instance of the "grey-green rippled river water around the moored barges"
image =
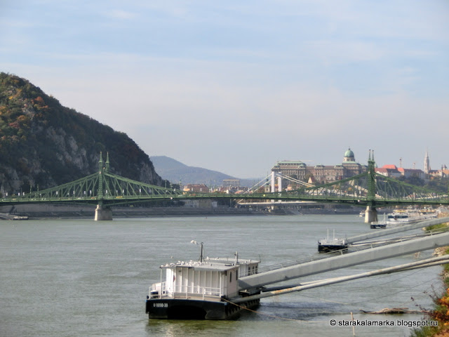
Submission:
<svg viewBox="0 0 449 337">
<path fill-rule="evenodd" d="M 358 279 L 264 298 L 257 312 L 232 321 L 149 320 L 148 286 L 159 266 L 205 256 L 261 259 L 260 267 L 317 254 L 327 230 L 336 237 L 371 231 L 358 216 L 225 216 L 0 222 L 0 336 L 409 336 L 422 314 L 367 315 L 360 310 L 432 308 L 441 267 Z M 420 253 L 430 256 L 431 251 Z M 401 256 L 319 279 L 408 263 Z M 290 281 L 292 283 L 292 281 Z M 413 299 L 412 299 L 413 298 Z M 331 326 L 335 319 L 337 326 Z M 392 323 L 391 323 L 392 322 Z M 410 322 L 410 323 L 407 323 Z"/>
</svg>

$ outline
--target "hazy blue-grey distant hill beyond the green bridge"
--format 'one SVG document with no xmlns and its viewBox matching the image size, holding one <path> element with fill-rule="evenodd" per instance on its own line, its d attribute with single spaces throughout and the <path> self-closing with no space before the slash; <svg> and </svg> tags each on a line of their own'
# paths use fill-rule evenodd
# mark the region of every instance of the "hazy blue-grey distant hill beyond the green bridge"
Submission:
<svg viewBox="0 0 449 337">
<path fill-rule="evenodd" d="M 205 184 L 205 185 L 222 185 L 224 179 L 239 179 L 228 176 L 225 173 L 203 169 L 201 167 L 187 166 L 180 161 L 166 156 L 150 157 L 154 169 L 163 179 L 169 180 L 171 183 L 181 182 L 183 185 L 187 184 Z M 241 179 L 241 186 L 251 187 L 258 180 Z"/>
</svg>

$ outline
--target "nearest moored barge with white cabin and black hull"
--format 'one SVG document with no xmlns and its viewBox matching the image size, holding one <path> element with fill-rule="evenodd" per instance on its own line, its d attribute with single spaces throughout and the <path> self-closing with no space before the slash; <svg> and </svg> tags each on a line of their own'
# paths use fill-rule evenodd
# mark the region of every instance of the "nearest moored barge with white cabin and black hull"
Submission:
<svg viewBox="0 0 449 337">
<path fill-rule="evenodd" d="M 255 293 L 239 292 L 239 275 L 257 274 L 260 261 L 202 258 L 161 266 L 161 282 L 149 287 L 146 312 L 156 319 L 231 319 L 259 300 L 239 305 L 233 298 Z M 163 278 L 165 277 L 165 281 Z"/>
</svg>

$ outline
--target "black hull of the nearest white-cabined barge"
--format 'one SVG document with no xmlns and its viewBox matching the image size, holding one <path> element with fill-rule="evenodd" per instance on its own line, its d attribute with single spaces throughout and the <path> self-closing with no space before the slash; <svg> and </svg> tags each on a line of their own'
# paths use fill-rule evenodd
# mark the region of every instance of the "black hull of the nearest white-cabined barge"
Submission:
<svg viewBox="0 0 449 337">
<path fill-rule="evenodd" d="M 241 310 L 255 308 L 259 303 L 260 300 L 235 305 L 189 298 L 150 298 L 147 299 L 146 312 L 149 318 L 156 319 L 232 319 L 238 316 Z"/>
</svg>

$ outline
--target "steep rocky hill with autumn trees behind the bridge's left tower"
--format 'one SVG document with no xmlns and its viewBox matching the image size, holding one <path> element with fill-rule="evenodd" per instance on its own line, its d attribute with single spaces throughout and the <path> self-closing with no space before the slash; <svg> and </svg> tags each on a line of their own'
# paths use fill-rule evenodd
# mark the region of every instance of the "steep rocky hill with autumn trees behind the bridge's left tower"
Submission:
<svg viewBox="0 0 449 337">
<path fill-rule="evenodd" d="M 0 73 L 0 193 L 18 194 L 110 171 L 163 185 L 152 161 L 125 133 L 63 107 L 20 77 Z"/>
</svg>

